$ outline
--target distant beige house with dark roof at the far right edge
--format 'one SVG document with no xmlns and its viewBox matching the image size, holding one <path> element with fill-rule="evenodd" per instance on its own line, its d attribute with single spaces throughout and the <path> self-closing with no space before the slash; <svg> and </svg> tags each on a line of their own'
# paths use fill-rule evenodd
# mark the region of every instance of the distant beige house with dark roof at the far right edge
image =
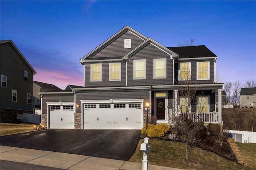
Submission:
<svg viewBox="0 0 256 170">
<path fill-rule="evenodd" d="M 240 107 L 256 107 L 256 87 L 241 88 Z"/>
</svg>

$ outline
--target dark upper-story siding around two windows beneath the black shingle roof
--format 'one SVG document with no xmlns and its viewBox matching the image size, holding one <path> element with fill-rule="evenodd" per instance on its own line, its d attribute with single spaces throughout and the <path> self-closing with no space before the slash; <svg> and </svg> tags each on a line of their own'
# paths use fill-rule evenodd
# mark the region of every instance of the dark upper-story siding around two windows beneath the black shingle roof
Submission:
<svg viewBox="0 0 256 170">
<path fill-rule="evenodd" d="M 205 60 L 204 60 L 205 61 Z M 196 62 L 202 62 L 202 60 L 198 61 L 182 61 L 174 63 L 174 75 L 176 80 L 178 80 L 178 70 L 180 69 L 179 63 L 191 63 L 191 80 L 192 82 L 200 83 L 213 83 L 214 82 L 214 61 L 210 61 L 210 80 L 196 80 Z M 177 68 L 178 67 L 178 68 Z M 175 83 L 176 81 L 174 81 Z"/>
</svg>

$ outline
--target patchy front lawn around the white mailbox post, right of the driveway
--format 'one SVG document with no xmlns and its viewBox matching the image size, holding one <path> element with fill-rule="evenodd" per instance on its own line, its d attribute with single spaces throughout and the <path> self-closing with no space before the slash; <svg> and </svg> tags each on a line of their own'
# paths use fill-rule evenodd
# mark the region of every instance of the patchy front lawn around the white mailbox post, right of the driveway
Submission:
<svg viewBox="0 0 256 170">
<path fill-rule="evenodd" d="M 140 150 L 140 144 L 143 142 L 144 139 L 139 141 L 136 151 L 129 161 L 142 163 L 143 152 Z M 241 145 L 242 148 L 245 147 L 244 149 L 241 148 L 241 150 L 243 150 L 241 151 L 241 155 L 244 156 L 244 154 L 246 154 L 250 159 L 245 157 L 245 162 L 247 161 L 248 163 L 241 166 L 210 151 L 197 147 L 191 151 L 189 160 L 186 160 L 184 143 L 151 139 L 149 140 L 151 150 L 148 154 L 148 163 L 186 170 L 256 170 L 256 165 L 253 163 L 256 159 L 256 144 L 250 147 L 246 145 L 247 144 Z"/>
</svg>

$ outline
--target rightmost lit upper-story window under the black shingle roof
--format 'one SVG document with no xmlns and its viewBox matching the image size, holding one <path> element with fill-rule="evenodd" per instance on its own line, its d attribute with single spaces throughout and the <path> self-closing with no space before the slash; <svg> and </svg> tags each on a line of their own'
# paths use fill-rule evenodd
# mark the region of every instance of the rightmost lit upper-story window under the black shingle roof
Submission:
<svg viewBox="0 0 256 170">
<path fill-rule="evenodd" d="M 197 80 L 210 80 L 210 62 L 197 62 L 196 63 L 196 79 Z"/>
</svg>

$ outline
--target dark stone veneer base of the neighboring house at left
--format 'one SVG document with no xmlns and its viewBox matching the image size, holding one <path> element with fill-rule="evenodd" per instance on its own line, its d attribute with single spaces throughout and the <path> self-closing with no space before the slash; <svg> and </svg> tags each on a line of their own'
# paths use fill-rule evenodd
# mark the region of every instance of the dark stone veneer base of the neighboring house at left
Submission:
<svg viewBox="0 0 256 170">
<path fill-rule="evenodd" d="M 14 110 L 14 109 L 2 109 L 1 108 L 1 121 L 18 121 L 17 114 L 23 114 L 23 113 L 31 113 L 33 114 L 33 111 L 26 111 L 26 110 Z"/>
</svg>

